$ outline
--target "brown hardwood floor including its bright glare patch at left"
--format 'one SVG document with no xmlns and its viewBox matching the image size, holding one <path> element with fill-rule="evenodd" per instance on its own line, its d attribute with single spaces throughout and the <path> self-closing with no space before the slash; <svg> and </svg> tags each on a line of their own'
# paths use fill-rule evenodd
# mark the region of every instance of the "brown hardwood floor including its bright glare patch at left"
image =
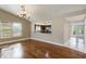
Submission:
<svg viewBox="0 0 86 64">
<path fill-rule="evenodd" d="M 85 59 L 86 53 L 37 40 L 0 46 L 1 59 Z"/>
</svg>

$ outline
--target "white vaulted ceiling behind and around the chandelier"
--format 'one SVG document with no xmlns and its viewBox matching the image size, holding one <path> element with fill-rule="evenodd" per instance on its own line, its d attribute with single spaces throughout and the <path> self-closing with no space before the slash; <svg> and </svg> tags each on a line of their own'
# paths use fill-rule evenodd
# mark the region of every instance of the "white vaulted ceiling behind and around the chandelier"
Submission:
<svg viewBox="0 0 86 64">
<path fill-rule="evenodd" d="M 16 15 L 20 4 L 0 4 L 0 9 Z M 26 4 L 27 12 L 34 21 L 50 21 L 54 16 L 86 10 L 84 4 Z"/>
</svg>

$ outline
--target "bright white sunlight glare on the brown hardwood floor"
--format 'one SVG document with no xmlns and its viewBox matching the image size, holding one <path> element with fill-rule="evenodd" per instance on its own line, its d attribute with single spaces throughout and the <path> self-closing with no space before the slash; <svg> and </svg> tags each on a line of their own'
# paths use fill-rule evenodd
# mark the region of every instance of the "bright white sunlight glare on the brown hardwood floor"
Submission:
<svg viewBox="0 0 86 64">
<path fill-rule="evenodd" d="M 1 50 L 1 57 L 4 59 L 11 59 L 11 57 L 22 57 L 23 49 L 21 43 L 16 43 L 13 46 L 10 46 L 9 48 L 5 47 Z"/>
</svg>

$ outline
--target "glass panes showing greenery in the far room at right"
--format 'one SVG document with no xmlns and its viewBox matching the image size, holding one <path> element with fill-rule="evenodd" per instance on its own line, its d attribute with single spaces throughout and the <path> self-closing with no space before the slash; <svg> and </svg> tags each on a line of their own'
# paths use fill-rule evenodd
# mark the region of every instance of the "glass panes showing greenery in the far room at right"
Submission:
<svg viewBox="0 0 86 64">
<path fill-rule="evenodd" d="M 81 23 L 71 23 L 71 35 L 75 36 L 84 36 L 84 22 Z"/>
</svg>

